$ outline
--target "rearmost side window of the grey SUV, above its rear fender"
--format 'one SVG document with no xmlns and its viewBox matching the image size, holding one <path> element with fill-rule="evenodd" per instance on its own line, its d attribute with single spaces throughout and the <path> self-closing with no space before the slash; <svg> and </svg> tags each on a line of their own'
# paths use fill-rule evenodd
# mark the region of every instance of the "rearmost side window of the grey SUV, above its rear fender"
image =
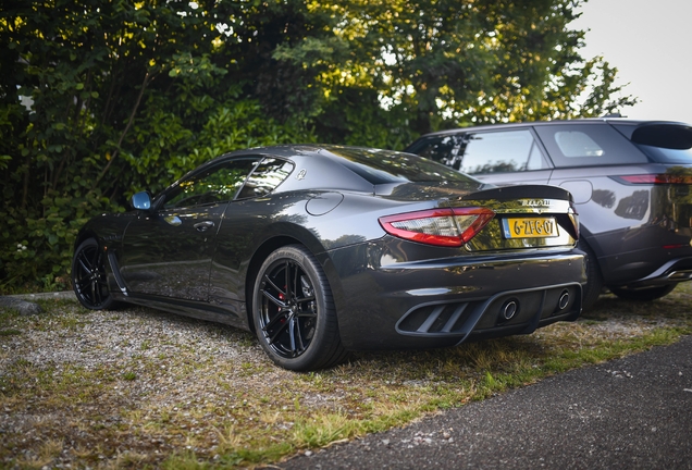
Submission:
<svg viewBox="0 0 692 470">
<path fill-rule="evenodd" d="M 647 162 L 646 156 L 607 124 L 536 125 L 535 132 L 558 168 Z"/>
</svg>

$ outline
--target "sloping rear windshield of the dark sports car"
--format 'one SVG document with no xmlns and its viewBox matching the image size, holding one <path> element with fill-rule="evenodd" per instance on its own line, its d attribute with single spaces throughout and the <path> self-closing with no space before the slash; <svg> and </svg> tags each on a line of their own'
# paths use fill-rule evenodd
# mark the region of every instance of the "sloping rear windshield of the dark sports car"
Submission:
<svg viewBox="0 0 692 470">
<path fill-rule="evenodd" d="M 341 163 L 373 185 L 399 182 L 460 182 L 477 180 L 425 158 L 391 150 L 329 147 Z"/>
</svg>

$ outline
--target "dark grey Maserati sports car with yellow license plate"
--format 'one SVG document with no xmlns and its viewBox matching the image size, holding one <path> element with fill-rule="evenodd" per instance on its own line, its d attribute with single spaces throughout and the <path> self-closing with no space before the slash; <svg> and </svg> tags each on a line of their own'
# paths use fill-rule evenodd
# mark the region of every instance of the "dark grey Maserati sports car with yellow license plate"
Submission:
<svg viewBox="0 0 692 470">
<path fill-rule="evenodd" d="M 528 334 L 581 311 L 571 196 L 496 188 L 387 150 L 281 146 L 217 158 L 75 243 L 79 301 L 257 333 L 281 367 L 347 350 Z"/>
</svg>

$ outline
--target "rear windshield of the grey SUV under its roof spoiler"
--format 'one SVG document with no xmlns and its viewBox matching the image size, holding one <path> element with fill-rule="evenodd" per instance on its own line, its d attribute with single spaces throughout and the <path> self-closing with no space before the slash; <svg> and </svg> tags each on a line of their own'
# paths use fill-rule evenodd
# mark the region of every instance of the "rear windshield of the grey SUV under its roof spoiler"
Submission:
<svg viewBox="0 0 692 470">
<path fill-rule="evenodd" d="M 692 127 L 675 124 L 614 125 L 658 163 L 692 164 Z"/>
</svg>

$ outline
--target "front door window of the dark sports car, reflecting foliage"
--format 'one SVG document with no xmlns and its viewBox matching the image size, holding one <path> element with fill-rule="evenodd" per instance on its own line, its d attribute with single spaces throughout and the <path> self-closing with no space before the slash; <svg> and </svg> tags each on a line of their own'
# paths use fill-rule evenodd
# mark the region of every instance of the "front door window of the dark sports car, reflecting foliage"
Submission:
<svg viewBox="0 0 692 470">
<path fill-rule="evenodd" d="M 225 161 L 181 182 L 166 195 L 164 208 L 183 208 L 232 200 L 259 157 Z"/>
</svg>

